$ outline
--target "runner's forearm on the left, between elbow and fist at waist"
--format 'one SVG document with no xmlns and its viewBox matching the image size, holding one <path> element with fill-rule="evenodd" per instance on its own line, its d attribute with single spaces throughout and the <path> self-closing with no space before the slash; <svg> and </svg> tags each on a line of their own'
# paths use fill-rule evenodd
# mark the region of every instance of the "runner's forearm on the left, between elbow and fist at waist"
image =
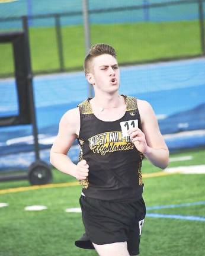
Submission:
<svg viewBox="0 0 205 256">
<path fill-rule="evenodd" d="M 73 164 L 67 155 L 63 153 L 50 152 L 50 163 L 59 171 L 75 177 L 76 165 Z"/>
</svg>

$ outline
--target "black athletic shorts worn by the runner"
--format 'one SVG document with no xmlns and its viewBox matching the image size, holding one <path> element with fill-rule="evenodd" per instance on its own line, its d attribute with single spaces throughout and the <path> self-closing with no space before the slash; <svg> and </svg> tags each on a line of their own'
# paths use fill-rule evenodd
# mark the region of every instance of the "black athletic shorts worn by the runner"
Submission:
<svg viewBox="0 0 205 256">
<path fill-rule="evenodd" d="M 140 235 L 145 219 L 146 208 L 143 199 L 132 203 L 105 201 L 81 196 L 84 235 L 75 245 L 94 249 L 94 244 L 111 244 L 127 241 L 130 255 L 139 254 Z"/>
</svg>

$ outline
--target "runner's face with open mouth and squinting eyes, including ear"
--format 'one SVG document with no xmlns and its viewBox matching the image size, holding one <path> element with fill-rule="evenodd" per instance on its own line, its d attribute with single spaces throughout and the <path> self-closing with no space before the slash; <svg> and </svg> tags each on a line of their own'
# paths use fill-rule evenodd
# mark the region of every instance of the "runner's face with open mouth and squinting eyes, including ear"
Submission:
<svg viewBox="0 0 205 256">
<path fill-rule="evenodd" d="M 94 89 L 104 92 L 117 91 L 120 84 L 120 72 L 115 57 L 105 54 L 94 57 L 92 71 L 87 76 Z"/>
</svg>

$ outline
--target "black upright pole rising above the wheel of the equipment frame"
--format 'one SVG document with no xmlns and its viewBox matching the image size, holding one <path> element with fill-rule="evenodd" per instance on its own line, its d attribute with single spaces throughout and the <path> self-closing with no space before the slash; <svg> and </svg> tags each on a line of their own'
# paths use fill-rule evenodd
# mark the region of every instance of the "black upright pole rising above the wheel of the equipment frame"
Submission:
<svg viewBox="0 0 205 256">
<path fill-rule="evenodd" d="M 34 151 L 36 160 L 39 160 L 39 141 L 38 141 L 38 130 L 36 124 L 36 111 L 34 106 L 34 93 L 33 93 L 33 74 L 31 71 L 31 57 L 30 57 L 30 45 L 28 37 L 28 17 L 23 16 L 23 28 L 24 28 L 24 42 L 25 42 L 25 59 L 27 61 L 27 80 L 28 80 L 28 91 L 29 91 L 29 100 L 30 100 L 30 111 L 31 111 L 31 124 L 33 127 L 33 136 L 34 136 Z"/>
</svg>

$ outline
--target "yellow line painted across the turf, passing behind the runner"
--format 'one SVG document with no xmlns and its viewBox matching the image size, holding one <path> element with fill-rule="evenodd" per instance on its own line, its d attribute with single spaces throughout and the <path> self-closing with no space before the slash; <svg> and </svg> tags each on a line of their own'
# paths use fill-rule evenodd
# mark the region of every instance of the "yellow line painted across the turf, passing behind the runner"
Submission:
<svg viewBox="0 0 205 256">
<path fill-rule="evenodd" d="M 168 173 L 164 171 L 160 172 L 153 172 L 150 174 L 143 174 L 143 178 L 152 178 L 152 177 L 159 177 L 159 176 L 166 176 L 166 175 L 171 175 L 171 174 L 176 174 L 175 173 Z M 72 187 L 79 185 L 78 181 L 73 181 L 69 183 L 54 183 L 54 184 L 46 184 L 46 185 L 33 185 L 29 187 L 17 187 L 17 188 L 7 188 L 4 190 L 0 190 L 0 194 L 8 194 L 8 193 L 17 193 L 17 192 L 22 192 L 22 191 L 28 191 L 28 190 L 37 190 L 41 188 L 57 188 L 57 187 Z"/>
</svg>

